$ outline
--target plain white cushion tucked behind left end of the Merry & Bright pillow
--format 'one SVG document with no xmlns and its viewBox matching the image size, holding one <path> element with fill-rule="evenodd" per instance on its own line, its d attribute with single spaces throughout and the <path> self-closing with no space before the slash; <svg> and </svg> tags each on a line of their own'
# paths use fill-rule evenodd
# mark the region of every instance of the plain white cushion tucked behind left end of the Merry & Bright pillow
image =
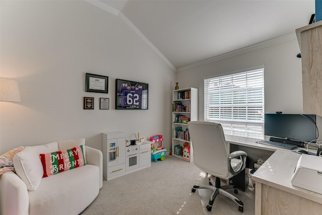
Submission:
<svg viewBox="0 0 322 215">
<path fill-rule="evenodd" d="M 44 173 L 39 154 L 52 152 L 54 150 L 58 150 L 57 142 L 25 147 L 24 150 L 15 155 L 14 167 L 16 174 L 25 182 L 28 190 L 37 189 Z"/>
</svg>

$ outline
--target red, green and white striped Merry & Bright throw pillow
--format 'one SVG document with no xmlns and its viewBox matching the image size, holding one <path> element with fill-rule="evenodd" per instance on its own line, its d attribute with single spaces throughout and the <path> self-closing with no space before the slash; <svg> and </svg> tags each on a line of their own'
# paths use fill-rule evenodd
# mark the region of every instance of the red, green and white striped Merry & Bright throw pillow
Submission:
<svg viewBox="0 0 322 215">
<path fill-rule="evenodd" d="M 39 156 L 44 169 L 43 177 L 86 165 L 82 145 L 69 150 L 40 154 Z"/>
</svg>

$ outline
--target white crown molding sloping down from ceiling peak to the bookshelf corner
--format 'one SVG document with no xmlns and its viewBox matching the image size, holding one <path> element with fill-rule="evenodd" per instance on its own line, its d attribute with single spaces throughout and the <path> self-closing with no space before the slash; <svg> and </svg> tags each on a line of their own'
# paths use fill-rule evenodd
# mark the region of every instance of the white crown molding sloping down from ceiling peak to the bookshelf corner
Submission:
<svg viewBox="0 0 322 215">
<path fill-rule="evenodd" d="M 158 50 L 149 39 L 142 34 L 142 32 L 136 28 L 136 26 L 122 13 L 120 12 L 118 17 L 130 28 L 134 33 L 148 46 L 152 49 L 157 56 L 159 56 L 173 71 L 177 71 L 177 68 L 168 60 L 168 58 L 163 55 L 160 50 Z"/>
</svg>

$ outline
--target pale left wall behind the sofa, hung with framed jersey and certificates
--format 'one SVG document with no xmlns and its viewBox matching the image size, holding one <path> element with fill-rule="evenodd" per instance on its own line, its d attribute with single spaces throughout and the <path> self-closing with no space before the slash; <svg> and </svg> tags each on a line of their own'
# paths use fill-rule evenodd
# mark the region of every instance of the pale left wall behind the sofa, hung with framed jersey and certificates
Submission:
<svg viewBox="0 0 322 215">
<path fill-rule="evenodd" d="M 19 82 L 22 100 L 0 103 L 1 154 L 78 137 L 101 150 L 115 130 L 163 134 L 170 149 L 175 73 L 118 17 L 85 1 L 1 1 L 0 42 L 0 77 Z M 108 76 L 108 94 L 85 92 L 85 73 Z M 115 110 L 115 79 L 148 83 L 149 109 Z"/>
</svg>

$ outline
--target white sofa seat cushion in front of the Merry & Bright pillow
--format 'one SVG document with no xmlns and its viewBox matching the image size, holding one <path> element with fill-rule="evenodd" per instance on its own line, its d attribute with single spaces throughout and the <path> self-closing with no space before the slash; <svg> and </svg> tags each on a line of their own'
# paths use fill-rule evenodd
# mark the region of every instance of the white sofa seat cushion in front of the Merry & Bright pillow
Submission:
<svg viewBox="0 0 322 215">
<path fill-rule="evenodd" d="M 97 197 L 99 167 L 86 165 L 42 178 L 29 191 L 29 214 L 79 214 Z"/>
</svg>

